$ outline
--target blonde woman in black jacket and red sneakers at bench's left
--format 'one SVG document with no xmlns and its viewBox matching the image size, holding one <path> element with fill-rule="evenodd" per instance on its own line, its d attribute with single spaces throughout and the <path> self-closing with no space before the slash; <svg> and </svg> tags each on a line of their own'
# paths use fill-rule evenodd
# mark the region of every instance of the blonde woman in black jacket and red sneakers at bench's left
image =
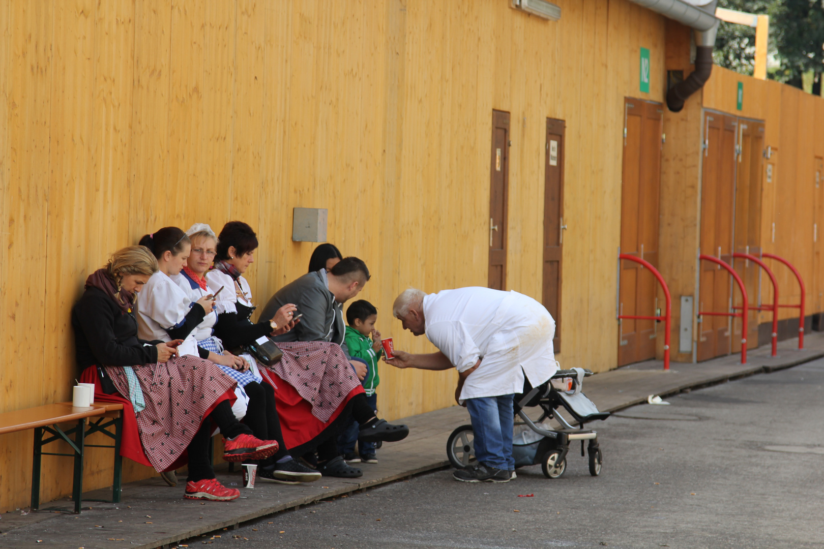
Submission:
<svg viewBox="0 0 824 549">
<path fill-rule="evenodd" d="M 157 471 L 188 461 L 186 498 L 234 500 L 240 492 L 217 481 L 208 459 L 211 423 L 223 433 L 227 461 L 265 458 L 278 444 L 256 439 L 232 415 L 235 381 L 216 365 L 178 356 L 176 342 L 138 338 L 134 295 L 156 272 L 148 249 L 129 246 L 87 278 L 72 311 L 80 379 L 95 384 L 96 400 L 123 404 L 121 455 Z"/>
</svg>

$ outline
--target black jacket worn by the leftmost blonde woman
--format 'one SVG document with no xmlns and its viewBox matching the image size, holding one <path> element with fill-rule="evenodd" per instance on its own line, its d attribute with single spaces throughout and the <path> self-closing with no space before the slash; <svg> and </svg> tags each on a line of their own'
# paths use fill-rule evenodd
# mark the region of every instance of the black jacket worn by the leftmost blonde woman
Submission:
<svg viewBox="0 0 824 549">
<path fill-rule="evenodd" d="M 72 309 L 77 367 L 134 366 L 157 362 L 158 342 L 138 339 L 138 320 L 104 291 L 89 288 Z M 149 347 L 144 343 L 151 344 Z"/>
</svg>

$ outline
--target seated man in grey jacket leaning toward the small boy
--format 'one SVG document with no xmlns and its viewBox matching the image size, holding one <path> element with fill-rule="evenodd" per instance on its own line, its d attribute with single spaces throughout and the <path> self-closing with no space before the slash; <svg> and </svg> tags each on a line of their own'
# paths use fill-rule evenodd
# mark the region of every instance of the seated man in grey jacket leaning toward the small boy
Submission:
<svg viewBox="0 0 824 549">
<path fill-rule="evenodd" d="M 310 272 L 276 291 L 260 313 L 258 322 L 268 323 L 275 312 L 287 303 L 297 306 L 302 314 L 300 322 L 291 331 L 274 337 L 278 342 L 332 342 L 343 347 L 344 319 L 335 315 L 336 304 L 351 300 L 369 280 L 369 269 L 362 260 L 341 259 L 329 272 L 321 269 Z M 344 352 L 349 352 L 344 347 Z M 366 365 L 352 361 L 360 379 L 366 375 Z"/>
</svg>

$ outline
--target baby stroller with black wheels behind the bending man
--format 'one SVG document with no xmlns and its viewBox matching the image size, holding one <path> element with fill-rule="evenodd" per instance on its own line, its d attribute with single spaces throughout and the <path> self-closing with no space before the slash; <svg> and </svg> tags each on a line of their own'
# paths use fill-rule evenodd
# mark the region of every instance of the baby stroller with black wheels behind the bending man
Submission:
<svg viewBox="0 0 824 549">
<path fill-rule="evenodd" d="M 523 393 L 516 394 L 514 402 L 514 412 L 522 420 L 515 422 L 516 434 L 513 435 L 515 468 L 541 463 L 545 477 L 558 478 L 566 469 L 569 443 L 580 440 L 583 457 L 584 440 L 589 440 L 589 473 L 593 477 L 601 473 L 602 454 L 598 447 L 598 434 L 594 430 L 585 430 L 583 426 L 588 421 L 606 420 L 610 412 L 598 412 L 595 404 L 581 393 L 583 378 L 590 375 L 590 370 L 574 368 L 559 370 L 540 387 L 532 388 L 528 380 L 524 381 Z M 559 389 L 555 385 L 562 385 L 564 388 Z M 532 421 L 523 408 L 536 406 L 540 406 L 544 412 L 538 421 Z M 580 426 L 578 429 L 555 412 L 559 407 L 564 407 L 573 416 Z M 561 424 L 562 429 L 550 426 L 549 420 L 553 418 Z M 473 441 L 471 425 L 460 426 L 452 431 L 447 440 L 447 456 L 453 467 L 461 469 L 475 463 Z"/>
</svg>

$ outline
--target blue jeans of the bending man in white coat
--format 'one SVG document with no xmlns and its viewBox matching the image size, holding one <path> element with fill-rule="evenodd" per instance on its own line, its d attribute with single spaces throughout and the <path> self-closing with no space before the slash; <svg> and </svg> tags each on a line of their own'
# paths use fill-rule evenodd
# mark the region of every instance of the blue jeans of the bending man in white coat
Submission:
<svg viewBox="0 0 824 549">
<path fill-rule="evenodd" d="M 467 398 L 475 431 L 475 458 L 487 467 L 515 469 L 513 459 L 513 394 Z"/>
</svg>

